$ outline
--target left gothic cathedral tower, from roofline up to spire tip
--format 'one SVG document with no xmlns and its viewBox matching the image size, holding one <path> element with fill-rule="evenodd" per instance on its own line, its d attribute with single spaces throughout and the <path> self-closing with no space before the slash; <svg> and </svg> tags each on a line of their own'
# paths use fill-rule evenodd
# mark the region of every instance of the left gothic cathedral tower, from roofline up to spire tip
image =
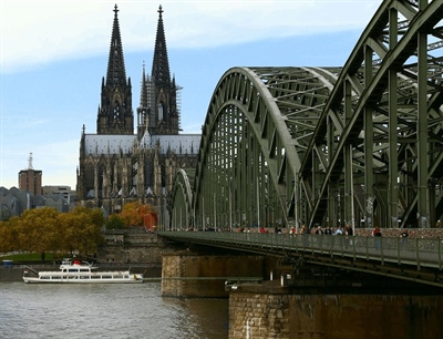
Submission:
<svg viewBox="0 0 443 339">
<path fill-rule="evenodd" d="M 97 114 L 97 134 L 134 133 L 131 78 L 126 81 L 117 12 L 115 4 L 106 80 L 102 79 L 102 102 Z"/>
</svg>

